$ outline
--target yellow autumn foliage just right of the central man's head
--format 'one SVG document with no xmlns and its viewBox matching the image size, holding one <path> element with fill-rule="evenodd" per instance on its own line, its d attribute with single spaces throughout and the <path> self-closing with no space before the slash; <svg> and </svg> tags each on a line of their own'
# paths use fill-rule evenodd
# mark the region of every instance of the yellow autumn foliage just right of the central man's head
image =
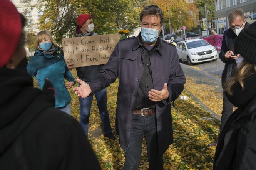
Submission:
<svg viewBox="0 0 256 170">
<path fill-rule="evenodd" d="M 171 4 L 169 4 L 171 2 Z M 152 4 L 158 5 L 164 12 L 164 23 L 169 29 L 168 4 L 170 12 L 171 29 L 186 26 L 188 30 L 198 25 L 198 10 L 194 3 L 184 0 L 152 0 Z"/>
</svg>

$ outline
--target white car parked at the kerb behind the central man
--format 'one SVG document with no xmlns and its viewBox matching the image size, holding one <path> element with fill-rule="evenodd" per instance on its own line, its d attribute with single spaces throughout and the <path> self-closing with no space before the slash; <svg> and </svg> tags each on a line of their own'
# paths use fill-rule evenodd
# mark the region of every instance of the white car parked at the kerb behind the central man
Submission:
<svg viewBox="0 0 256 170">
<path fill-rule="evenodd" d="M 180 41 L 176 46 L 179 61 L 187 61 L 189 65 L 204 61 L 216 61 L 218 54 L 214 46 L 200 38 Z"/>
</svg>

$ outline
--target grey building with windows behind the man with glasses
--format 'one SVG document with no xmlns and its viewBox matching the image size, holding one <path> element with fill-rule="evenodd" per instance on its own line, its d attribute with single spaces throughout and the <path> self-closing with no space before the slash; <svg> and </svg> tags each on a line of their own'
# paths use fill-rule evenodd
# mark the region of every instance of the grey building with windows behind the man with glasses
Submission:
<svg viewBox="0 0 256 170">
<path fill-rule="evenodd" d="M 215 0 L 217 34 L 223 34 L 229 28 L 228 14 L 241 8 L 248 23 L 256 21 L 256 0 Z"/>
</svg>

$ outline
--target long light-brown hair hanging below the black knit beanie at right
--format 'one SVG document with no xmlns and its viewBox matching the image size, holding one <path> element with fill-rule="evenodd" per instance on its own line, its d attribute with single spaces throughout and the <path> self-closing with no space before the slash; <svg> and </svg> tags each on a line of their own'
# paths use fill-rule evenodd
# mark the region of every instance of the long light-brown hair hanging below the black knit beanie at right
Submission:
<svg viewBox="0 0 256 170">
<path fill-rule="evenodd" d="M 251 63 L 244 59 L 242 63 L 239 65 L 239 68 L 234 69 L 234 75 L 228 79 L 224 84 L 224 91 L 226 91 L 229 95 L 233 94 L 232 87 L 234 84 L 239 83 L 244 89 L 244 82 L 243 79 L 251 76 L 252 74 L 256 73 L 256 64 Z"/>
</svg>

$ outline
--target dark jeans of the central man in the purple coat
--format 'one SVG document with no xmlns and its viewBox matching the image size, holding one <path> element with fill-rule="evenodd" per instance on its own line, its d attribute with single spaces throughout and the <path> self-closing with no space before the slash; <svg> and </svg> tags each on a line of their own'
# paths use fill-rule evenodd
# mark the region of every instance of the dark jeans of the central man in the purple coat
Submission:
<svg viewBox="0 0 256 170">
<path fill-rule="evenodd" d="M 132 114 L 128 149 L 124 152 L 124 170 L 137 170 L 141 162 L 142 142 L 145 137 L 150 170 L 163 169 L 163 154 L 158 154 L 155 115 Z"/>
</svg>

